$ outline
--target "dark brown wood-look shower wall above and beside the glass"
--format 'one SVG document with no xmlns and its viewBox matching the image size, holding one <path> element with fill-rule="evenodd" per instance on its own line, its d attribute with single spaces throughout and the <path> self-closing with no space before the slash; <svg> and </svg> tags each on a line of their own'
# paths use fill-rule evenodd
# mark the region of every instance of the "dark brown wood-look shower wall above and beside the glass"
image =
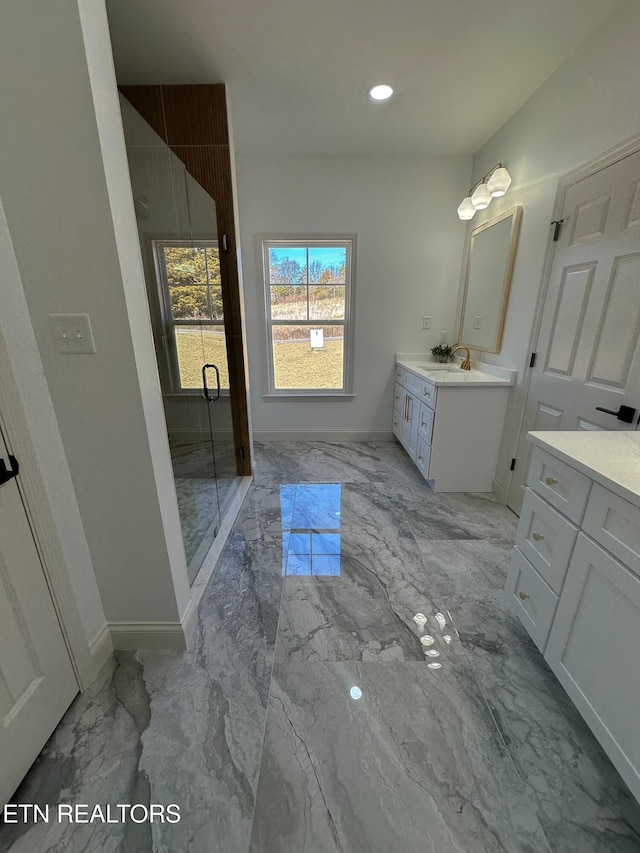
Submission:
<svg viewBox="0 0 640 853">
<path fill-rule="evenodd" d="M 120 91 L 216 203 L 236 467 L 246 476 L 252 473 L 251 442 L 225 86 L 120 86 Z"/>
</svg>

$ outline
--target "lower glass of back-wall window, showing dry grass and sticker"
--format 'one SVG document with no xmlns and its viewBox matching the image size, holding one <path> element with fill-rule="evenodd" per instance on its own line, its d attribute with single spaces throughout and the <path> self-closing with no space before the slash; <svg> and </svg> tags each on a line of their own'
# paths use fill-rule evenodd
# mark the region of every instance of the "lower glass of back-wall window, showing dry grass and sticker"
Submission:
<svg viewBox="0 0 640 853">
<path fill-rule="evenodd" d="M 278 326 L 271 328 L 275 387 L 343 387 L 342 326 Z"/>
</svg>

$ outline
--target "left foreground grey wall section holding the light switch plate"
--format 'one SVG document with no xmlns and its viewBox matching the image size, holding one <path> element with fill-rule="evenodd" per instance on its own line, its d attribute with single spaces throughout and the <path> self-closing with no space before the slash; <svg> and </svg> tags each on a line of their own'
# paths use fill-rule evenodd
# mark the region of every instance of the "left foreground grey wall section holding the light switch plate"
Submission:
<svg viewBox="0 0 640 853">
<path fill-rule="evenodd" d="M 103 0 L 3 6 L 0 197 L 110 622 L 176 622 L 189 586 Z M 55 351 L 88 312 L 97 353 Z"/>
</svg>

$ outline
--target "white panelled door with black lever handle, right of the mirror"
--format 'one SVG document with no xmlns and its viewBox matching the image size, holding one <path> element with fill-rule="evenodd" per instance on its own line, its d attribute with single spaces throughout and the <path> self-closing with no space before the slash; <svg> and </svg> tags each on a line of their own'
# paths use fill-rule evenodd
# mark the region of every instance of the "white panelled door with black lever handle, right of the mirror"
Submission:
<svg viewBox="0 0 640 853">
<path fill-rule="evenodd" d="M 508 505 L 520 512 L 529 430 L 630 430 L 640 409 L 640 152 L 567 190 Z"/>
</svg>

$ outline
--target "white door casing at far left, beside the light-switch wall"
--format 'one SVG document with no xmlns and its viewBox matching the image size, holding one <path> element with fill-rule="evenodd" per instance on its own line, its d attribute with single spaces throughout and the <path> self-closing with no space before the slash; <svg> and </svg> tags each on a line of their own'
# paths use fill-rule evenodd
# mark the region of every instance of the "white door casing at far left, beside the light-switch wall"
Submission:
<svg viewBox="0 0 640 853">
<path fill-rule="evenodd" d="M 85 635 L 80 608 L 49 505 L 44 478 L 40 471 L 38 454 L 31 439 L 28 420 L 1 328 L 0 427 L 8 451 L 20 462 L 20 475 L 17 479 L 18 490 L 78 682 L 78 689 L 84 690 L 98 674 L 99 668 L 104 662 L 104 655 L 102 651 L 97 654 L 93 653 L 97 649 L 92 651 Z M 104 641 L 106 643 L 105 649 L 108 647 L 108 651 L 110 651 L 110 640 L 106 625 L 105 631 L 107 632 L 106 639 L 101 635 L 96 646 L 102 647 Z"/>
</svg>

